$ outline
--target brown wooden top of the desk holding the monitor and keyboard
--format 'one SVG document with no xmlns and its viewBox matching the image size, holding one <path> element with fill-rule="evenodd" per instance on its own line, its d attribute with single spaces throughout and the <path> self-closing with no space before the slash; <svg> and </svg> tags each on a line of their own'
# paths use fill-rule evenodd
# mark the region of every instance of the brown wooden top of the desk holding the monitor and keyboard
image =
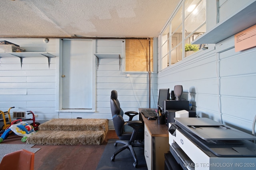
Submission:
<svg viewBox="0 0 256 170">
<path fill-rule="evenodd" d="M 148 120 L 148 118 L 144 117 L 141 113 L 141 110 L 145 108 L 139 108 L 140 117 L 142 117 L 148 131 L 152 137 L 169 137 L 168 127 L 166 124 L 158 125 L 157 120 Z"/>
</svg>

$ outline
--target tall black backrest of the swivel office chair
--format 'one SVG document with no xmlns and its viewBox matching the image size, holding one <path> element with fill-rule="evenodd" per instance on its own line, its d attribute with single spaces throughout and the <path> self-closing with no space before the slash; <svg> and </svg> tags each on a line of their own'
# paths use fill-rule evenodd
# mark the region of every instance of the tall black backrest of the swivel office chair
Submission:
<svg viewBox="0 0 256 170">
<path fill-rule="evenodd" d="M 110 107 L 116 135 L 119 137 L 124 132 L 124 119 L 122 117 L 123 111 L 120 108 L 120 103 L 117 99 L 116 90 L 112 90 L 111 92 Z"/>
</svg>

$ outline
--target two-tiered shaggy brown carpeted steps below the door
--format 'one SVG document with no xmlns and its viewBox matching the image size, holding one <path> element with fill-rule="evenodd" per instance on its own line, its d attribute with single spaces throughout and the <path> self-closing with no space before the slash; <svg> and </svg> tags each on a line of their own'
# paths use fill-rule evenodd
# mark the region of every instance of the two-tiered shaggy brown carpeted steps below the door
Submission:
<svg viewBox="0 0 256 170">
<path fill-rule="evenodd" d="M 26 139 L 36 145 L 100 145 L 108 133 L 108 119 L 51 119 Z"/>
</svg>

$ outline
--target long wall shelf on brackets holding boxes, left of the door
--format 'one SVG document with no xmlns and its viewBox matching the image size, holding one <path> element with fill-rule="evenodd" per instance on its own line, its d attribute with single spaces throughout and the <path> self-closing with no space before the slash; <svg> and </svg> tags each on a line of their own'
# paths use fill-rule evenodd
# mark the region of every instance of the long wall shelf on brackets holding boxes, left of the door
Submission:
<svg viewBox="0 0 256 170">
<path fill-rule="evenodd" d="M 20 58 L 20 65 L 22 67 L 22 60 L 24 57 L 47 57 L 48 58 L 48 65 L 50 68 L 50 58 L 56 57 L 50 53 L 45 53 L 45 52 L 22 52 L 22 53 L 0 53 L 0 58 L 1 57 L 19 57 Z"/>
</svg>

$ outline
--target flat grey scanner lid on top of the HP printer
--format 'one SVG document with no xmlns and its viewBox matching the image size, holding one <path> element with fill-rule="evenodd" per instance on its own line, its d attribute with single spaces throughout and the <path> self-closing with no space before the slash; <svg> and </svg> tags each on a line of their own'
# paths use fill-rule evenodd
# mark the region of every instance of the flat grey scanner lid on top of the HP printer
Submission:
<svg viewBox="0 0 256 170">
<path fill-rule="evenodd" d="M 209 140 L 256 140 L 256 137 L 223 125 L 206 117 L 175 117 L 176 124 L 201 139 Z"/>
</svg>

